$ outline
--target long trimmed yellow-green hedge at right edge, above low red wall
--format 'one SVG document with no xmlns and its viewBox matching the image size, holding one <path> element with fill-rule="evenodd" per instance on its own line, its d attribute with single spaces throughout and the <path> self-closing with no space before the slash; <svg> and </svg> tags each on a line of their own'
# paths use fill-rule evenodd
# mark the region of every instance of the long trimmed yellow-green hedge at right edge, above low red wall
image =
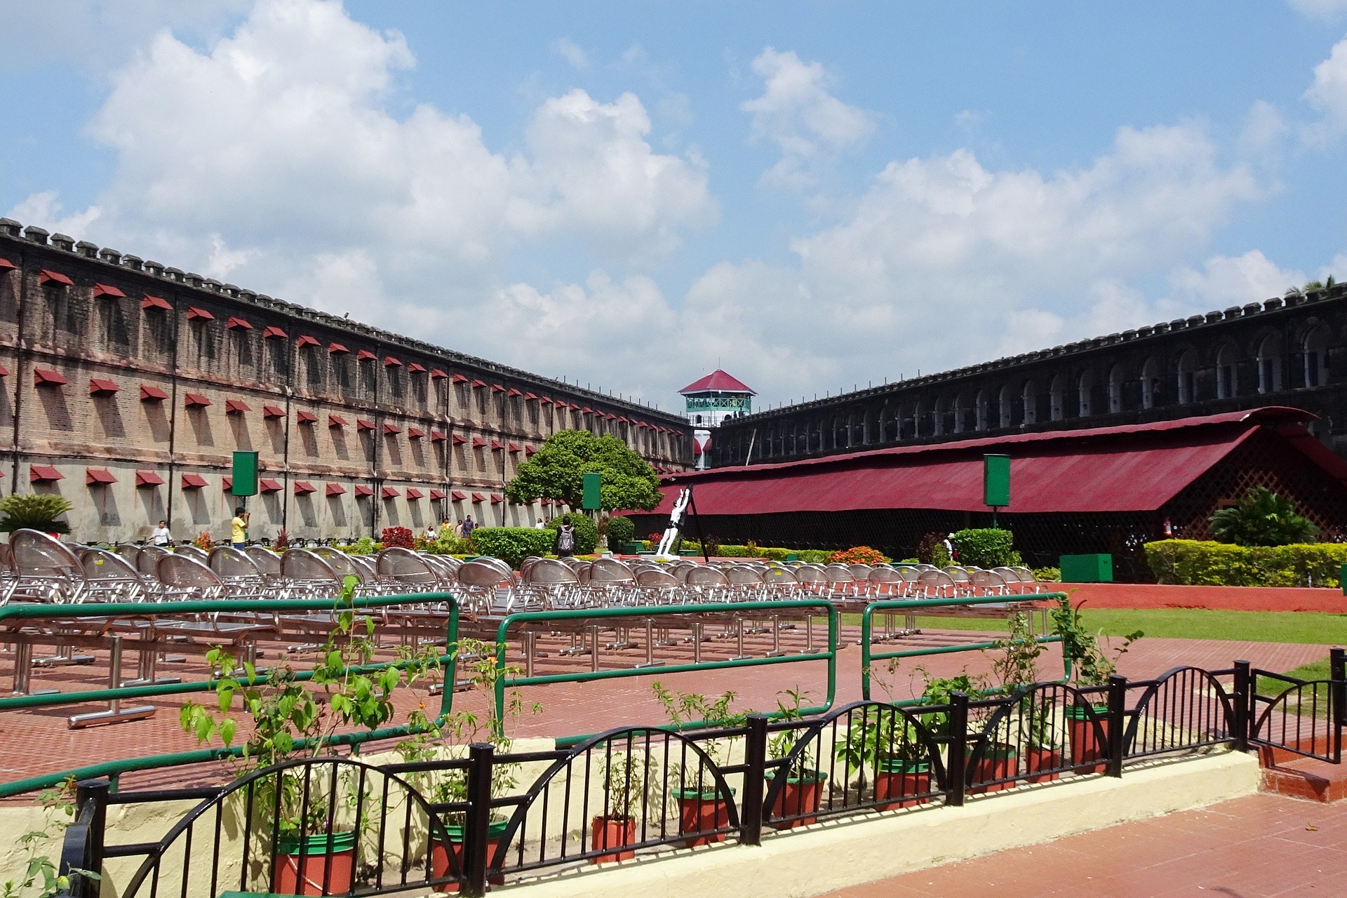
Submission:
<svg viewBox="0 0 1347 898">
<path fill-rule="evenodd" d="M 1146 543 L 1160 583 L 1183 586 L 1342 586 L 1347 544 L 1233 545 L 1199 540 Z"/>
</svg>

